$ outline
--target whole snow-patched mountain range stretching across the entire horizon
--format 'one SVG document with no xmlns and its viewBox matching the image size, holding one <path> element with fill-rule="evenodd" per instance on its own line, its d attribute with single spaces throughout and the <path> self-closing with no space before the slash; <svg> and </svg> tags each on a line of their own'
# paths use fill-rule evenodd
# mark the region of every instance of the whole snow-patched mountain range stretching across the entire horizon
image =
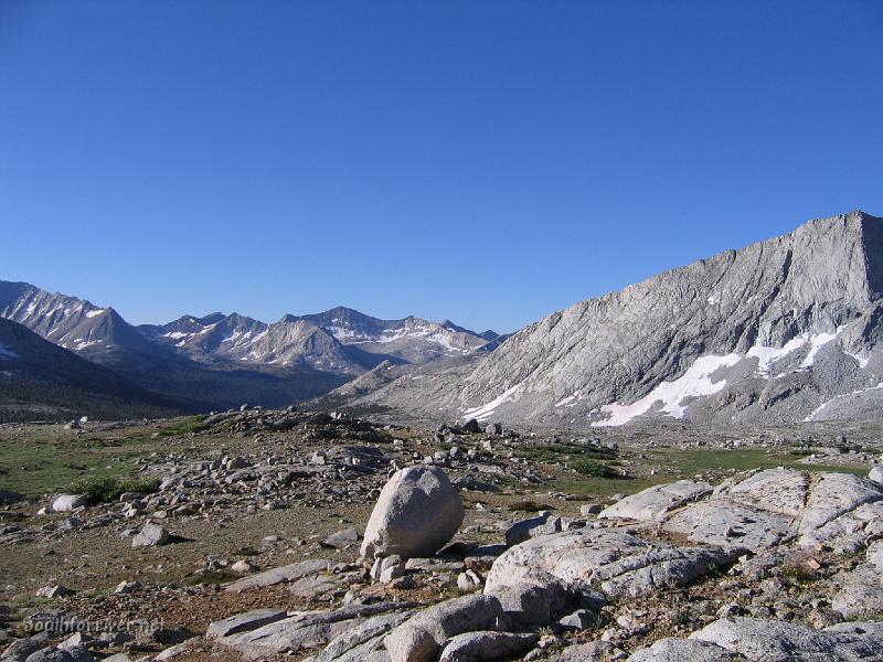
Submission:
<svg viewBox="0 0 883 662">
<path fill-rule="evenodd" d="M 0 282 L 0 317 L 192 410 L 319 398 L 578 428 L 883 416 L 883 220 L 864 212 L 587 299 L 511 337 L 348 308 L 134 327 L 22 282 Z"/>
</svg>

